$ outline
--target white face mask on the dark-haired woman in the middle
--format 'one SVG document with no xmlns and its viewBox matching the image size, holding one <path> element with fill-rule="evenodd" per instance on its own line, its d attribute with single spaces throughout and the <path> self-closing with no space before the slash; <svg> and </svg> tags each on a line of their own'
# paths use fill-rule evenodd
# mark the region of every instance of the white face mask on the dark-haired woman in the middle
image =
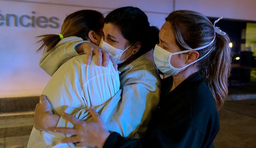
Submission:
<svg viewBox="0 0 256 148">
<path fill-rule="evenodd" d="M 130 46 L 128 46 L 128 48 Z M 129 58 L 132 55 L 132 54 L 129 55 L 129 57 L 125 58 L 124 60 L 120 60 L 122 53 L 124 53 L 124 51 L 126 51 L 128 48 L 125 48 L 124 50 L 114 48 L 110 44 L 104 42 L 103 38 L 101 38 L 99 47 L 108 51 L 109 55 L 111 55 L 111 57 L 115 60 L 115 62 L 117 62 L 117 64 L 121 64 L 122 62 L 124 62 L 127 58 Z"/>
</svg>

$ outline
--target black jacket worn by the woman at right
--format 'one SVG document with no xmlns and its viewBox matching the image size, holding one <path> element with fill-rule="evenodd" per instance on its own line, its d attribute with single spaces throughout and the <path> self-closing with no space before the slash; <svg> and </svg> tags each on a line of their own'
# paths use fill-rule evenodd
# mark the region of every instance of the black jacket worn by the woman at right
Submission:
<svg viewBox="0 0 256 148">
<path fill-rule="evenodd" d="M 111 133 L 104 148 L 212 148 L 219 116 L 209 87 L 197 72 L 169 93 L 173 77 L 163 79 L 159 107 L 140 140 Z"/>
</svg>

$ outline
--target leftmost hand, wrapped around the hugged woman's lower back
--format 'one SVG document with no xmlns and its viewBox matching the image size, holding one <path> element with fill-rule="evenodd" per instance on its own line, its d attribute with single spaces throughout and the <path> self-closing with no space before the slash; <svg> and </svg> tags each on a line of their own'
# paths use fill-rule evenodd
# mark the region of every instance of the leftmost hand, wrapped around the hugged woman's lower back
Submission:
<svg viewBox="0 0 256 148">
<path fill-rule="evenodd" d="M 52 113 L 52 106 L 45 95 L 41 95 L 39 99 L 41 104 L 39 102 L 35 107 L 34 127 L 40 131 L 52 130 L 56 128 L 59 116 Z"/>
</svg>

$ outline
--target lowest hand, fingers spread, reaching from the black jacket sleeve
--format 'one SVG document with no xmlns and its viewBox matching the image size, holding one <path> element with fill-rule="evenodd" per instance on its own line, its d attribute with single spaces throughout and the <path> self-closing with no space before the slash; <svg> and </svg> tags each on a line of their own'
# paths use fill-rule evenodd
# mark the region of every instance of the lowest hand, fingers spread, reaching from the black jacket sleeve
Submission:
<svg viewBox="0 0 256 148">
<path fill-rule="evenodd" d="M 93 107 L 89 108 L 89 112 L 93 116 L 94 121 L 83 121 L 67 113 L 63 114 L 63 116 L 76 125 L 76 127 L 56 128 L 54 130 L 54 132 L 75 135 L 74 137 L 63 139 L 61 143 L 75 143 L 76 146 L 103 147 L 110 133 L 108 132 L 104 121 Z"/>
</svg>

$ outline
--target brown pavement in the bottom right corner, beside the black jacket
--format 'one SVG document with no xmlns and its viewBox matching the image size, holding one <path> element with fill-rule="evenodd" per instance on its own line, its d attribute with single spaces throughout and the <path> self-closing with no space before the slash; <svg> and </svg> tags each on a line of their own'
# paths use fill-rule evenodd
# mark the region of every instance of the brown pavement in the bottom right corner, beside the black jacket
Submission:
<svg viewBox="0 0 256 148">
<path fill-rule="evenodd" d="M 256 99 L 226 101 L 215 148 L 256 148 Z"/>
</svg>

